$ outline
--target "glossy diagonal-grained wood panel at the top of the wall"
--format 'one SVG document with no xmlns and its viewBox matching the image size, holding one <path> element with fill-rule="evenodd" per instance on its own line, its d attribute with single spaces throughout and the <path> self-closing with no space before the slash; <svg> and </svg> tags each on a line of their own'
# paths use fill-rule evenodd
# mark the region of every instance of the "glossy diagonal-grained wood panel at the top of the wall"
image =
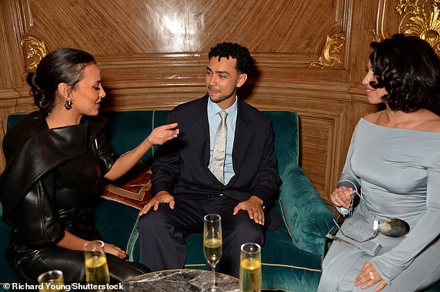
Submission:
<svg viewBox="0 0 440 292">
<path fill-rule="evenodd" d="M 246 40 L 251 51 L 316 54 L 326 34 L 341 31 L 348 6 L 344 0 L 16 2 L 25 8 L 26 33 L 94 54 L 208 51 L 224 40 Z M 316 19 L 322 25 L 311 27 Z"/>
</svg>

